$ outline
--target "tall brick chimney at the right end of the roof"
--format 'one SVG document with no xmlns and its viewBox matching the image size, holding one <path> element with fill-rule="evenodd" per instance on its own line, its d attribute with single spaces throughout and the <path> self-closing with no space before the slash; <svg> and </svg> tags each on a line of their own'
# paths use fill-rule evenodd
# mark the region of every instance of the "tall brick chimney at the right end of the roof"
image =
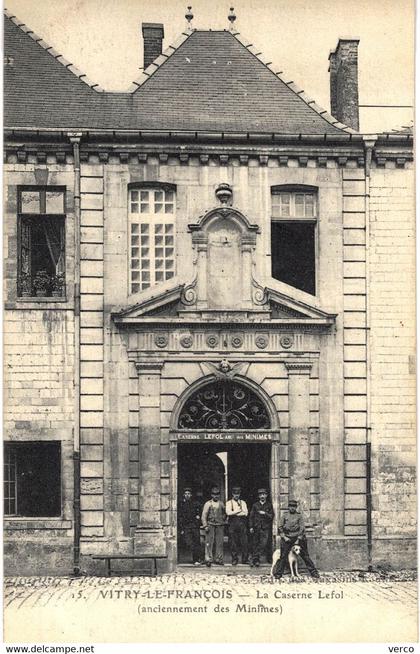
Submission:
<svg viewBox="0 0 420 654">
<path fill-rule="evenodd" d="M 360 39 L 339 39 L 329 60 L 331 114 L 341 123 L 359 130 L 357 48 Z"/>
</svg>

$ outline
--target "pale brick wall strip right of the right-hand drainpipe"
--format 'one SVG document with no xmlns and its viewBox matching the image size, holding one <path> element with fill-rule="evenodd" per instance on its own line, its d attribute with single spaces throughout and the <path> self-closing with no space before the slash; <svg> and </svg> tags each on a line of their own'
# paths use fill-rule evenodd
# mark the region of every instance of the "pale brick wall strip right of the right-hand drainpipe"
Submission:
<svg viewBox="0 0 420 654">
<path fill-rule="evenodd" d="M 373 533 L 414 536 L 414 177 L 393 166 L 374 168 L 370 189 Z"/>
</svg>

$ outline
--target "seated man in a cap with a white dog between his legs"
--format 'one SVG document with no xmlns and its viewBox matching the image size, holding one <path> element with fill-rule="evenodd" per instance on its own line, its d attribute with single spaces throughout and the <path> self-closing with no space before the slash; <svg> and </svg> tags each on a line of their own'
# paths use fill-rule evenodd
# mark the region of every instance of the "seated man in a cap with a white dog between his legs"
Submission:
<svg viewBox="0 0 420 654">
<path fill-rule="evenodd" d="M 273 570 L 276 579 L 280 579 L 287 566 L 289 552 L 293 545 L 300 545 L 300 556 L 305 561 L 311 577 L 318 578 L 318 570 L 308 553 L 305 525 L 302 514 L 297 510 L 297 501 L 289 500 L 288 510 L 283 515 L 279 526 L 281 536 L 281 556 Z"/>
</svg>

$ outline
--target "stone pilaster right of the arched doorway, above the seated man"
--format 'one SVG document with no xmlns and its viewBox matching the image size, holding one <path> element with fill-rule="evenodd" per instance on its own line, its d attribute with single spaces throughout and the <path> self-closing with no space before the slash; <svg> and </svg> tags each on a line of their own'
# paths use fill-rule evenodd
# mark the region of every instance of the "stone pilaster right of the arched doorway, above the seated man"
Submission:
<svg viewBox="0 0 420 654">
<path fill-rule="evenodd" d="M 311 508 L 309 376 L 312 364 L 286 363 L 289 375 L 289 499 L 308 519 Z"/>
</svg>

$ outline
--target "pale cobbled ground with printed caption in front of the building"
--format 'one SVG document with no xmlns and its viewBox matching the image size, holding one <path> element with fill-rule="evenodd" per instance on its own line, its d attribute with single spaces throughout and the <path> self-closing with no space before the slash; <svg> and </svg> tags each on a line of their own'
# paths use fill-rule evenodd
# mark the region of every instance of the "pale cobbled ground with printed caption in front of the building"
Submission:
<svg viewBox="0 0 420 654">
<path fill-rule="evenodd" d="M 410 642 L 415 581 L 177 571 L 152 577 L 5 579 L 9 642 Z M 409 577 L 409 575 L 408 575 Z M 346 580 L 348 579 L 348 580 Z M 215 623 L 219 627 L 215 630 Z M 223 629 L 222 629 L 223 628 Z M 228 628 L 228 631 L 224 631 Z M 19 631 L 17 631 L 17 629 Z M 222 636 L 222 631 L 223 636 Z M 19 635 L 17 635 L 19 633 Z M 229 637 L 232 635 L 232 638 Z"/>
</svg>

